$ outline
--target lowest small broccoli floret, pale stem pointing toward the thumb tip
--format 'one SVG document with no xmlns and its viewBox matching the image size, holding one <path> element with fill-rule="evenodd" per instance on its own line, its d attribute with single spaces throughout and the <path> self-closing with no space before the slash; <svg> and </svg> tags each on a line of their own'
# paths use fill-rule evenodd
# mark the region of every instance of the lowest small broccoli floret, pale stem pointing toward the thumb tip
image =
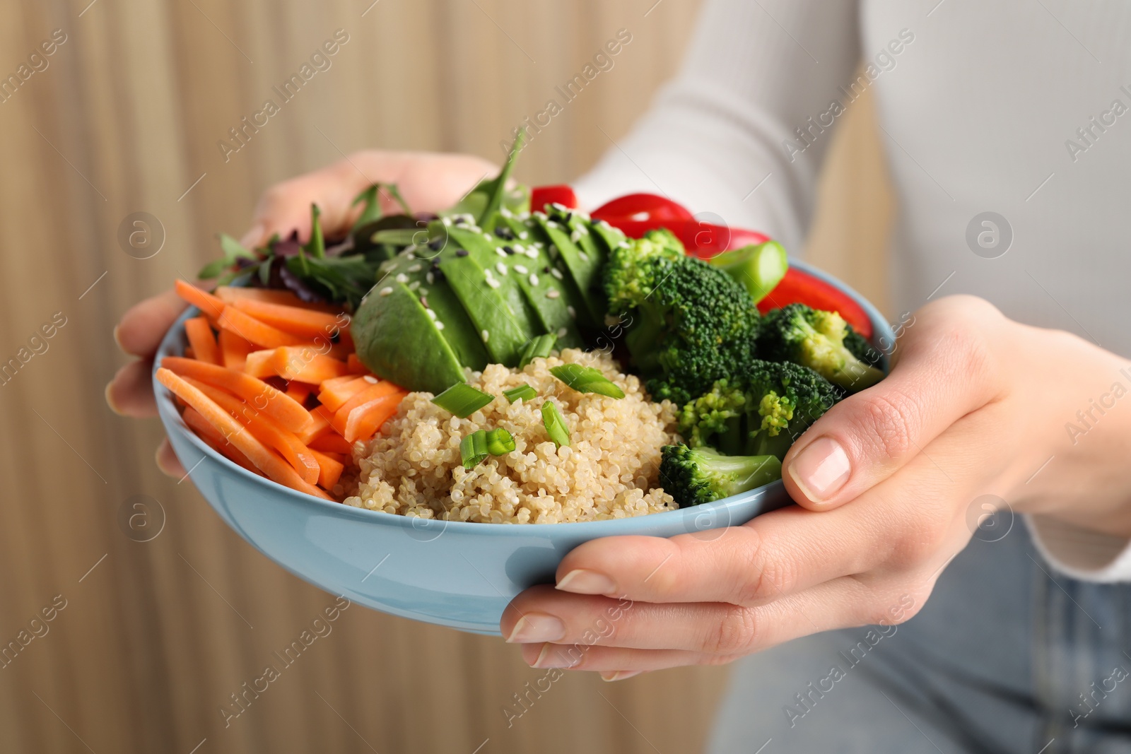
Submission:
<svg viewBox="0 0 1131 754">
<path fill-rule="evenodd" d="M 680 508 L 729 497 L 782 478 L 774 456 L 723 456 L 711 448 L 665 445 L 659 480 Z"/>
</svg>

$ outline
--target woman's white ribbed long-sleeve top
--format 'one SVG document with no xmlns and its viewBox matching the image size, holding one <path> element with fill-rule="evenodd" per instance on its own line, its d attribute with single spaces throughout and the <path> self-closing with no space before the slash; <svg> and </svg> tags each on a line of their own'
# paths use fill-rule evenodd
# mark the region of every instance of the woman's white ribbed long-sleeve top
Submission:
<svg viewBox="0 0 1131 754">
<path fill-rule="evenodd" d="M 896 311 L 969 293 L 1131 356 L 1123 0 L 707 0 L 682 70 L 579 199 L 665 193 L 796 253 L 830 132 L 865 88 L 899 200 Z M 975 253 L 983 213 L 1008 226 L 975 223 Z M 1029 525 L 1070 575 L 1131 580 L 1125 540 Z"/>
</svg>

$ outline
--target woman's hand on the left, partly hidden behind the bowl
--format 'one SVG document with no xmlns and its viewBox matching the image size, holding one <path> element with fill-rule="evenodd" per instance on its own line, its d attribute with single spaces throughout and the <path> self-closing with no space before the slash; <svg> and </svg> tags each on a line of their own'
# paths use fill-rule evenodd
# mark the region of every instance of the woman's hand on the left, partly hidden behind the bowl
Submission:
<svg viewBox="0 0 1131 754">
<path fill-rule="evenodd" d="M 470 155 L 443 155 L 413 151 L 359 151 L 345 159 L 307 175 L 278 183 L 264 193 L 256 208 L 251 228 L 241 243 L 247 248 L 266 243 L 274 233 L 290 235 L 297 228 L 305 241 L 310 236 L 310 205 L 321 209 L 322 227 L 328 236 L 343 234 L 361 214 L 352 202 L 373 183 L 396 183 L 414 211 L 434 211 L 459 200 L 480 179 L 497 167 Z M 385 211 L 400 211 L 392 198 L 381 192 Z M 127 354 L 137 356 L 106 385 L 106 402 L 126 416 L 155 416 L 157 404 L 149 374 L 153 356 L 165 331 L 184 310 L 172 291 L 148 298 L 130 309 L 114 328 L 114 339 Z M 157 466 L 171 476 L 184 469 L 169 440 L 157 449 Z"/>
</svg>

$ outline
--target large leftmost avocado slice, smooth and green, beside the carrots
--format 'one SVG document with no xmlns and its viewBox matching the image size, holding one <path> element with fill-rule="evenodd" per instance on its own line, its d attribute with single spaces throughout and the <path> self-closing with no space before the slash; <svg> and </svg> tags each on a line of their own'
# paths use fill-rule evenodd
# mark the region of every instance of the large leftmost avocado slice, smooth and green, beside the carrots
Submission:
<svg viewBox="0 0 1131 754">
<path fill-rule="evenodd" d="M 357 358 L 407 390 L 439 393 L 464 381 L 464 369 L 416 293 L 386 280 L 361 302 L 349 324 Z"/>
</svg>

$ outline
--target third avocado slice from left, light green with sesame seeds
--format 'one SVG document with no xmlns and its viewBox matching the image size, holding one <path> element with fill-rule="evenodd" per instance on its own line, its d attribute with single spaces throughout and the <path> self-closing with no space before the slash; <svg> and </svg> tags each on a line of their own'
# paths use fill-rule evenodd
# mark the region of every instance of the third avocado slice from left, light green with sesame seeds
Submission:
<svg viewBox="0 0 1131 754">
<path fill-rule="evenodd" d="M 487 283 L 486 272 L 470 254 L 459 255 L 447 250 L 440 257 L 440 271 L 480 331 L 491 361 L 508 366 L 517 364 L 523 346 L 533 335 L 518 321 L 501 293 L 499 278 L 504 276 L 490 278 L 499 286 L 494 287 Z M 515 289 L 521 295 L 517 285 Z M 482 338 L 483 333 L 486 333 L 485 338 Z"/>
</svg>

